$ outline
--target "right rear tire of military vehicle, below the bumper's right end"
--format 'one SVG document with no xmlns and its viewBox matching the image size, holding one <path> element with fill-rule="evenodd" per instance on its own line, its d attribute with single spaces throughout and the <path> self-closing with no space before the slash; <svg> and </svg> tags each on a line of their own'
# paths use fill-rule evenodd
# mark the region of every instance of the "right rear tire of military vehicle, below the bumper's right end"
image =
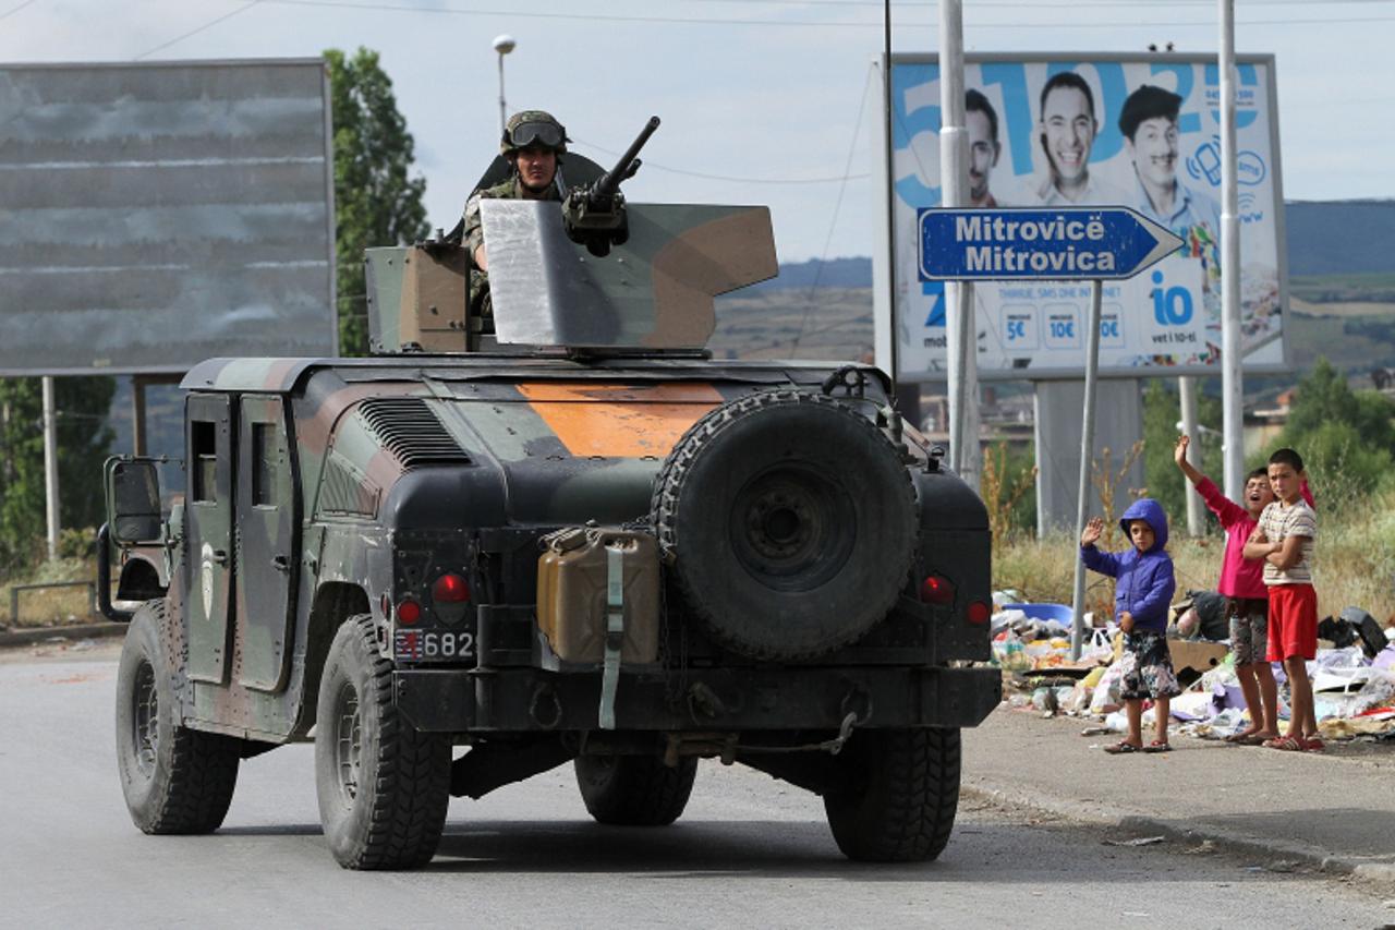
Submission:
<svg viewBox="0 0 1395 930">
<path fill-rule="evenodd" d="M 960 789 L 958 730 L 861 730 L 823 799 L 833 839 L 858 862 L 925 862 L 944 850 Z"/>
</svg>

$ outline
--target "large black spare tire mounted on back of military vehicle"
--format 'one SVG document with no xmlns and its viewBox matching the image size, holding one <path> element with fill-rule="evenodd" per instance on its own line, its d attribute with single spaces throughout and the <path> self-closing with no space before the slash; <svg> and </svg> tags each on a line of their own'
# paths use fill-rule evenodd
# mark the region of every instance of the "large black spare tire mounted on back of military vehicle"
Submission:
<svg viewBox="0 0 1395 930">
<path fill-rule="evenodd" d="M 905 586 L 919 531 L 887 436 L 795 390 L 698 420 L 665 459 L 651 510 L 688 607 L 757 659 L 813 658 L 876 626 Z"/>
</svg>

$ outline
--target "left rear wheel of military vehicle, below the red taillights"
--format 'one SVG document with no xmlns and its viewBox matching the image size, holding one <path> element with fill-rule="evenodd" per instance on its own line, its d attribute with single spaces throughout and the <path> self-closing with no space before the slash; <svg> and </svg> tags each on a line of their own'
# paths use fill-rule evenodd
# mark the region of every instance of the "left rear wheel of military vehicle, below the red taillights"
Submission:
<svg viewBox="0 0 1395 930">
<path fill-rule="evenodd" d="M 315 789 L 329 852 L 345 869 L 431 862 L 451 802 L 451 744 L 420 733 L 392 701 L 392 663 L 372 620 L 329 647 L 315 718 Z"/>
</svg>

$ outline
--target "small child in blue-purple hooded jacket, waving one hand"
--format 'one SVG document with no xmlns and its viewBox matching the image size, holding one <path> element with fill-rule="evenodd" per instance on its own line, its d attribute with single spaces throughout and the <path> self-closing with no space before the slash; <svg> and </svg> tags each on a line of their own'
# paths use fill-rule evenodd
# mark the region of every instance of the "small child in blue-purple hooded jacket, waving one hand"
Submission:
<svg viewBox="0 0 1395 930">
<path fill-rule="evenodd" d="M 1106 746 L 1110 754 L 1166 753 L 1168 716 L 1172 698 L 1182 694 L 1168 651 L 1168 605 L 1177 589 L 1172 575 L 1172 556 L 1166 553 L 1168 515 L 1151 497 L 1140 497 L 1119 525 L 1133 547 L 1122 553 L 1095 549 L 1105 521 L 1095 517 L 1080 535 L 1080 557 L 1085 567 L 1115 578 L 1115 620 L 1124 633 L 1123 679 L 1119 695 L 1129 716 L 1129 737 Z M 1156 739 L 1143 744 L 1143 701 L 1152 698 L 1156 714 Z"/>
</svg>

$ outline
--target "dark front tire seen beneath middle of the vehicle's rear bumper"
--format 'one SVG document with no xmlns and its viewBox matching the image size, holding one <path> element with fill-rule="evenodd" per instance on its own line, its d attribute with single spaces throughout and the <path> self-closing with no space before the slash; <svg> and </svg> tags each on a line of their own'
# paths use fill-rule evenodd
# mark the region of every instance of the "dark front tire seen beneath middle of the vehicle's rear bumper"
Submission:
<svg viewBox="0 0 1395 930">
<path fill-rule="evenodd" d="M 653 755 L 578 755 L 576 785 L 597 822 L 615 827 L 667 827 L 678 820 L 698 778 L 698 760 L 677 768 Z"/>
</svg>

